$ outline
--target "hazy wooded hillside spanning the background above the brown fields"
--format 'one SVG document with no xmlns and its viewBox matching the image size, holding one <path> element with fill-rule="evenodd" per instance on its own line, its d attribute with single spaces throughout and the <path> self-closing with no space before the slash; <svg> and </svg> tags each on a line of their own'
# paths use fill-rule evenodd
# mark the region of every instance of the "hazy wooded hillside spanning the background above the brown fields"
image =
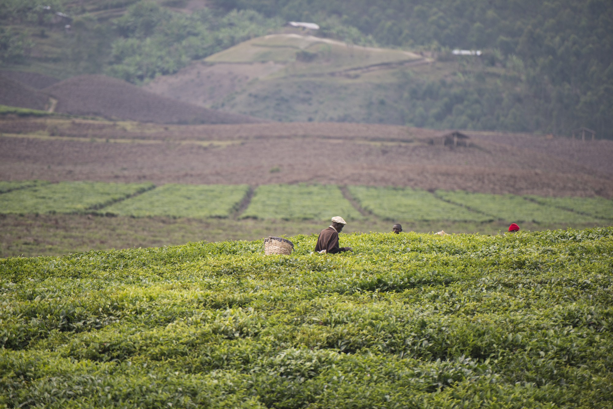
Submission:
<svg viewBox="0 0 613 409">
<path fill-rule="evenodd" d="M 0 4 L 0 60 L 4 69 L 58 79 L 106 73 L 154 88 L 160 75 L 193 69 L 192 61 L 222 64 L 211 56 L 286 32 L 287 20 L 319 23 L 317 36 L 345 42 L 350 52 L 395 48 L 432 62 L 316 78 L 340 48 L 286 47 L 283 67 L 243 77 L 235 70 L 221 78 L 223 66 L 206 72 L 205 86 L 223 89 L 205 93 L 200 105 L 281 121 L 558 135 L 585 126 L 613 135 L 613 4 L 606 0 L 7 0 Z M 458 57 L 453 48 L 483 54 Z M 249 63 L 267 62 L 258 58 Z M 164 94 L 164 86 L 150 91 Z M 167 96 L 189 100 L 188 91 Z"/>
</svg>

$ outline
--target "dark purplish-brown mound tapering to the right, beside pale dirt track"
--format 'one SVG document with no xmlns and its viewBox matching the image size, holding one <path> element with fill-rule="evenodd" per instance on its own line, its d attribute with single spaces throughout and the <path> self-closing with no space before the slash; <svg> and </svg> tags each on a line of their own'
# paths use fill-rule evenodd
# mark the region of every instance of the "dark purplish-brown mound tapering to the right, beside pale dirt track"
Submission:
<svg viewBox="0 0 613 409">
<path fill-rule="evenodd" d="M 265 122 L 240 114 L 208 110 L 158 96 L 104 75 L 80 75 L 43 90 L 58 99 L 56 112 L 131 119 L 158 124 L 237 124 Z"/>
</svg>

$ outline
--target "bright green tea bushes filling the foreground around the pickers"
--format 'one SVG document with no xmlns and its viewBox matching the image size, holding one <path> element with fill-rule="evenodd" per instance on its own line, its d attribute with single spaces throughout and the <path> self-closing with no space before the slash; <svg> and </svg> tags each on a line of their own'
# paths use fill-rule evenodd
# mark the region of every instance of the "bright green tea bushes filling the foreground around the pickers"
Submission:
<svg viewBox="0 0 613 409">
<path fill-rule="evenodd" d="M 0 259 L 0 407 L 613 407 L 613 228 L 316 238 Z"/>
</svg>

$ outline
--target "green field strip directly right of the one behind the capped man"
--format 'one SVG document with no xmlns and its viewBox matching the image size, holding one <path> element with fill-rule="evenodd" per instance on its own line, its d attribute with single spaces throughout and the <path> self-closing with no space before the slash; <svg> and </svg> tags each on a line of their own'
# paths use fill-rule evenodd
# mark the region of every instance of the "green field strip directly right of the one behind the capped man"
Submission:
<svg viewBox="0 0 613 409">
<path fill-rule="evenodd" d="M 463 206 L 447 203 L 422 189 L 375 186 L 348 186 L 347 189 L 363 209 L 384 220 L 487 222 L 494 219 Z"/>
</svg>

